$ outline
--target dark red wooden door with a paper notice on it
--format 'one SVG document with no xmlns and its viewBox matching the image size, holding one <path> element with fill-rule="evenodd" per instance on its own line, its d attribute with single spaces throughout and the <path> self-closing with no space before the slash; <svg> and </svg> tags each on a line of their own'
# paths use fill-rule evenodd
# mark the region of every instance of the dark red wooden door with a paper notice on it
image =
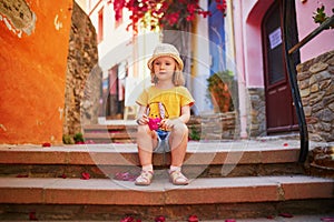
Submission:
<svg viewBox="0 0 334 222">
<path fill-rule="evenodd" d="M 294 3 L 294 1 L 288 1 Z M 294 7 L 293 7 L 294 9 Z M 291 12 L 295 13 L 295 12 Z M 292 91 L 286 70 L 282 37 L 282 1 L 276 1 L 263 20 L 264 73 L 266 95 L 267 133 L 288 132 L 298 129 Z M 289 23 L 293 42 L 297 42 L 295 17 Z M 298 60 L 298 58 L 296 58 Z"/>
</svg>

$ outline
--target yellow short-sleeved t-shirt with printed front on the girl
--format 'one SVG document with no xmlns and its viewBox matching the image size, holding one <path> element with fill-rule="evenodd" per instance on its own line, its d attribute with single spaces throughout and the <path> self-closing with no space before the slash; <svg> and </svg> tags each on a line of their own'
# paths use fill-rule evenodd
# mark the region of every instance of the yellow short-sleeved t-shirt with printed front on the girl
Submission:
<svg viewBox="0 0 334 222">
<path fill-rule="evenodd" d="M 141 92 L 137 103 L 149 109 L 148 115 L 150 118 L 175 119 L 180 117 L 181 107 L 191 107 L 195 100 L 185 87 L 160 90 L 153 85 Z M 165 117 L 160 117 L 161 107 L 164 108 L 163 114 Z"/>
</svg>

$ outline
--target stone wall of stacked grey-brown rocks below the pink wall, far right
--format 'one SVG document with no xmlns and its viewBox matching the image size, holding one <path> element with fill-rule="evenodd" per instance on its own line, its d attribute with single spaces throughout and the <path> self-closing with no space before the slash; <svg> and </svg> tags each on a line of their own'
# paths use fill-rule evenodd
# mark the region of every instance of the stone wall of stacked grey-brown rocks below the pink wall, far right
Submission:
<svg viewBox="0 0 334 222">
<path fill-rule="evenodd" d="M 334 141 L 334 51 L 297 65 L 311 141 Z"/>
</svg>

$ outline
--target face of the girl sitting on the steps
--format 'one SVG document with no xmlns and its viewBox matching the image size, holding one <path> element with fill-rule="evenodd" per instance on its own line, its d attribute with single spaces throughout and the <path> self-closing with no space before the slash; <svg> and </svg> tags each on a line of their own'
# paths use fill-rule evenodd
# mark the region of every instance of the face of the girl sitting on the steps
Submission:
<svg viewBox="0 0 334 222">
<path fill-rule="evenodd" d="M 159 57 L 154 61 L 154 72 L 160 80 L 171 80 L 176 69 L 176 61 L 171 57 Z"/>
</svg>

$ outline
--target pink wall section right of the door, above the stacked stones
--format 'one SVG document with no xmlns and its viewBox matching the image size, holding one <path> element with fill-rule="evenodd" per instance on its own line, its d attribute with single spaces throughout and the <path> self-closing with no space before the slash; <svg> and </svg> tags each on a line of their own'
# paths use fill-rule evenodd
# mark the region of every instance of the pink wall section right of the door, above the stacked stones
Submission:
<svg viewBox="0 0 334 222">
<path fill-rule="evenodd" d="M 296 1 L 299 41 L 304 39 L 307 34 L 310 34 L 315 28 L 318 27 L 318 24 L 314 23 L 312 19 L 313 12 L 316 10 L 317 7 L 321 6 L 317 2 L 318 1 L 315 0 L 307 0 L 305 3 L 302 3 L 302 1 Z M 328 16 L 332 16 L 333 12 L 331 10 L 332 8 L 334 8 L 334 1 L 322 0 L 321 2 L 325 6 L 326 13 Z M 333 30 L 323 31 L 301 49 L 302 62 L 315 58 L 324 52 L 334 50 L 333 42 L 334 42 L 334 31 Z"/>
</svg>

